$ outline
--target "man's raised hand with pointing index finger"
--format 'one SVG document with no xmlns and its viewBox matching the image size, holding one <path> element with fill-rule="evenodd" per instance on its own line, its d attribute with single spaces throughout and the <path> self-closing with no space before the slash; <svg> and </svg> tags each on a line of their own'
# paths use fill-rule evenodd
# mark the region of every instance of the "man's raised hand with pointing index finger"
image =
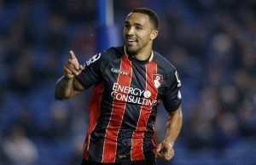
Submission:
<svg viewBox="0 0 256 165">
<path fill-rule="evenodd" d="M 69 52 L 70 58 L 69 60 L 65 63 L 63 67 L 63 71 L 65 74 L 65 77 L 71 79 L 73 77 L 76 77 L 79 75 L 79 73 L 84 70 L 84 66 L 79 65 L 79 61 L 76 58 L 75 54 L 73 54 L 73 51 Z"/>
</svg>

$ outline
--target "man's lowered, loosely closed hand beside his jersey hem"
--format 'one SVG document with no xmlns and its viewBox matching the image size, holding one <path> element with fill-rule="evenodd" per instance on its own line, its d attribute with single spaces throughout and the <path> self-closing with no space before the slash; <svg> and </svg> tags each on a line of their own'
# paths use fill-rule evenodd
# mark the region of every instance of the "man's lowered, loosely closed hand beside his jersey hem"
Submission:
<svg viewBox="0 0 256 165">
<path fill-rule="evenodd" d="M 156 156 L 166 159 L 167 161 L 171 160 L 174 156 L 173 142 L 164 140 L 156 147 Z"/>
</svg>

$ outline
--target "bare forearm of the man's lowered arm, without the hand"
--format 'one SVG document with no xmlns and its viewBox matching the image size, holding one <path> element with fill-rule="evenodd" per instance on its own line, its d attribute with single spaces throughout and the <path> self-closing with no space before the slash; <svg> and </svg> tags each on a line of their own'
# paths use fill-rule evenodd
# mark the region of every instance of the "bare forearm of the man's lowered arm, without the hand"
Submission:
<svg viewBox="0 0 256 165">
<path fill-rule="evenodd" d="M 166 141 L 171 145 L 174 144 L 178 134 L 182 128 L 183 114 L 181 107 L 177 111 L 171 113 L 167 117 L 166 123 Z"/>
</svg>

